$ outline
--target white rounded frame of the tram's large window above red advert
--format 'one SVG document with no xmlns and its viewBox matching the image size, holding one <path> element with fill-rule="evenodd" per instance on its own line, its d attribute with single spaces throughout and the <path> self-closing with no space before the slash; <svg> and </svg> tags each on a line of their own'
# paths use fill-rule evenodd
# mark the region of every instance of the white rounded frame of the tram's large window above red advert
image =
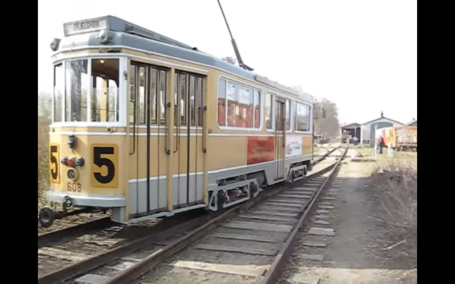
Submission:
<svg viewBox="0 0 455 284">
<path fill-rule="evenodd" d="M 226 81 L 226 84 L 225 84 L 225 124 L 226 126 L 220 126 L 219 125 L 219 121 L 218 121 L 218 88 L 220 87 L 220 79 L 223 79 Z M 240 85 L 240 86 L 244 86 L 246 88 L 250 88 L 252 89 L 252 96 L 253 96 L 253 121 L 252 121 L 252 125 L 253 127 L 239 127 L 239 126 L 227 126 L 227 85 L 231 83 L 231 84 L 235 84 L 235 85 Z M 254 127 L 254 122 L 255 122 L 255 116 L 254 116 L 254 91 L 257 90 L 259 91 L 259 99 L 260 99 L 260 102 L 259 102 L 259 110 L 260 110 L 260 123 L 259 123 L 259 127 L 258 128 L 255 128 Z M 258 88 L 258 87 L 254 87 L 250 84 L 245 84 L 245 83 L 242 83 L 242 82 L 239 82 L 237 80 L 233 80 L 233 79 L 230 79 L 229 77 L 227 76 L 224 76 L 224 75 L 220 75 L 218 76 L 218 78 L 216 79 L 216 125 L 218 126 L 218 128 L 220 130 L 236 130 L 236 131 L 241 131 L 241 130 L 248 130 L 248 131 L 262 131 L 262 128 L 264 126 L 264 91 L 261 89 L 261 88 Z"/>
</svg>

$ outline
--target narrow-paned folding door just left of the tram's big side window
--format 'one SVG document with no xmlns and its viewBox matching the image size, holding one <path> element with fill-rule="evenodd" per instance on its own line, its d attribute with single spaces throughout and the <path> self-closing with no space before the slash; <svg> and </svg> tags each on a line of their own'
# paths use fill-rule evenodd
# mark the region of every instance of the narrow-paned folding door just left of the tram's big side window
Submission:
<svg viewBox="0 0 455 284">
<path fill-rule="evenodd" d="M 203 203 L 205 155 L 204 77 L 176 70 L 174 78 L 174 209 Z"/>
</svg>

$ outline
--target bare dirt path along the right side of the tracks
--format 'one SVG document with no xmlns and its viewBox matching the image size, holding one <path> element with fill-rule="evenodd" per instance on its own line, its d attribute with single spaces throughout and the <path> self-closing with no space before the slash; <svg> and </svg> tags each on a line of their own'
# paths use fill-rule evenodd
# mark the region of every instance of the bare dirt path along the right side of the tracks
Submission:
<svg viewBox="0 0 455 284">
<path fill-rule="evenodd" d="M 417 283 L 417 247 L 404 243 L 390 248 L 402 238 L 389 233 L 387 225 L 377 221 L 382 219 L 384 210 L 378 206 L 381 202 L 378 195 L 368 186 L 371 173 L 368 168 L 372 166 L 368 164 L 342 165 L 330 188 L 338 189 L 334 209 L 322 217 L 312 213 L 281 283 L 318 283 L 318 278 L 319 284 Z M 318 218 L 328 221 L 328 225 L 314 224 Z M 310 227 L 332 228 L 335 236 L 307 235 Z M 326 247 L 304 246 L 304 241 L 323 241 Z M 319 254 L 323 260 L 302 259 L 302 253 Z M 302 277 L 307 280 L 301 280 Z"/>
</svg>

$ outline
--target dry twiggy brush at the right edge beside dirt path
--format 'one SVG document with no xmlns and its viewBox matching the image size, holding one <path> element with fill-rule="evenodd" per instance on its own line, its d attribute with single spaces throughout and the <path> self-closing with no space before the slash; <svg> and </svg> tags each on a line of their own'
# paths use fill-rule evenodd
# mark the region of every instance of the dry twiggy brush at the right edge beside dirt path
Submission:
<svg viewBox="0 0 455 284">
<path fill-rule="evenodd" d="M 417 162 L 384 158 L 373 169 L 370 190 L 379 211 L 372 218 L 399 240 L 396 244 L 417 249 Z"/>
</svg>

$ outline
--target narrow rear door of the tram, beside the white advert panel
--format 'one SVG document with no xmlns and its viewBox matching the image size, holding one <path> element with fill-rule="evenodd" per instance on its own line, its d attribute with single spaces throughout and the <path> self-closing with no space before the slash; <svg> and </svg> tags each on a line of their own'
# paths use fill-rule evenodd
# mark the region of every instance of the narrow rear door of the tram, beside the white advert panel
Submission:
<svg viewBox="0 0 455 284">
<path fill-rule="evenodd" d="M 284 158 L 286 147 L 286 108 L 285 99 L 275 96 L 275 180 L 284 178 Z"/>
</svg>

